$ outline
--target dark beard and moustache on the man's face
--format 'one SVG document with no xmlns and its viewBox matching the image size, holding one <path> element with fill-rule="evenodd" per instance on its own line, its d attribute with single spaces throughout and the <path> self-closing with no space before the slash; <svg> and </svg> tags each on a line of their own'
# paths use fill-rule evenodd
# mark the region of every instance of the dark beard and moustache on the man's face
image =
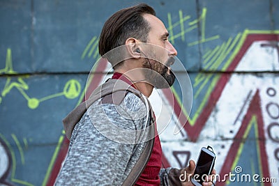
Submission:
<svg viewBox="0 0 279 186">
<path fill-rule="evenodd" d="M 152 61 L 153 63 L 151 64 L 149 59 L 146 59 L 146 61 L 148 61 L 148 63 L 146 63 L 144 67 L 149 69 L 146 71 L 146 79 L 151 85 L 160 89 L 169 88 L 174 84 L 176 77 L 172 70 L 169 70 L 168 68 L 174 63 L 174 57 L 169 57 L 165 64 L 160 63 L 159 61 Z"/>
</svg>

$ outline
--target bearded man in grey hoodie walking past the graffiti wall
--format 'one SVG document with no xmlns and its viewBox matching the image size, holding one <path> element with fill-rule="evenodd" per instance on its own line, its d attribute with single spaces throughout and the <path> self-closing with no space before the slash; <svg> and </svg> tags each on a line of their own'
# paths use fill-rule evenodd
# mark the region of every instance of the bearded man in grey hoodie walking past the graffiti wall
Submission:
<svg viewBox="0 0 279 186">
<path fill-rule="evenodd" d="M 174 83 L 170 65 L 177 52 L 168 36 L 146 4 L 119 10 L 105 22 L 99 52 L 114 75 L 64 119 L 70 146 L 56 185 L 193 185 L 179 180 L 193 174 L 193 160 L 185 169 L 161 169 L 162 148 L 146 99 L 154 87 Z M 212 185 L 206 179 L 203 185 Z"/>
</svg>

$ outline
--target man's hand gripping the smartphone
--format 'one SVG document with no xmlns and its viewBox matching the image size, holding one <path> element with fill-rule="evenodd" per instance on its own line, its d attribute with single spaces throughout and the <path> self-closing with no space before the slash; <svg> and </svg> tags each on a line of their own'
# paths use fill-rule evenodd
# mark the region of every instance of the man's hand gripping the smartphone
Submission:
<svg viewBox="0 0 279 186">
<path fill-rule="evenodd" d="M 183 186 L 193 186 L 193 183 L 191 182 L 191 178 L 194 175 L 194 171 L 195 171 L 195 162 L 193 160 L 189 161 L 189 166 L 187 166 L 186 168 L 181 170 L 181 182 Z M 213 185 L 213 180 L 216 174 L 216 170 L 213 169 L 213 171 L 211 172 L 211 175 L 206 176 L 206 181 L 204 183 L 202 183 L 202 185 L 206 186 L 206 185 Z M 185 177 L 186 176 L 186 177 Z"/>
</svg>

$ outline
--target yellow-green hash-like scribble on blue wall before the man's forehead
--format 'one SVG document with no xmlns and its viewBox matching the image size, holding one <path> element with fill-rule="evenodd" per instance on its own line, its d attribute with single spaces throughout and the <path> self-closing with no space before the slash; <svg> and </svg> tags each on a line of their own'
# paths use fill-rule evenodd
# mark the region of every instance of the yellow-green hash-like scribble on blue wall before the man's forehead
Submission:
<svg viewBox="0 0 279 186">
<path fill-rule="evenodd" d="M 167 13 L 167 22 L 169 24 L 167 30 L 169 31 L 169 41 L 174 44 L 174 40 L 176 38 L 180 38 L 181 40 L 185 41 L 185 34 L 193 31 L 194 29 L 198 29 L 200 26 L 200 31 L 201 31 L 201 38 L 200 40 L 197 40 L 195 42 L 190 42 L 188 43 L 188 46 L 193 46 L 193 45 L 198 45 L 203 42 L 208 42 L 211 40 L 216 40 L 220 38 L 219 35 L 216 36 L 211 36 L 209 38 L 206 38 L 205 34 L 205 24 L 206 24 L 206 8 L 202 8 L 202 15 L 200 15 L 196 20 L 193 20 L 191 22 L 188 22 L 188 25 L 184 25 L 184 22 L 190 20 L 191 16 L 186 15 L 183 17 L 183 12 L 182 10 L 179 10 L 179 21 L 175 22 L 172 24 L 172 15 L 170 13 Z M 180 26 L 180 32 L 174 35 L 174 28 L 176 26 Z"/>
</svg>

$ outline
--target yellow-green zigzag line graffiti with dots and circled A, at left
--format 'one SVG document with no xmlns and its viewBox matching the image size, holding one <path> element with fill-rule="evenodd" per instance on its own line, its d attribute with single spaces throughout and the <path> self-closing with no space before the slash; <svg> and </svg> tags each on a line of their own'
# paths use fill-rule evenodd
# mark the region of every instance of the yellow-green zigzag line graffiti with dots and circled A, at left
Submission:
<svg viewBox="0 0 279 186">
<path fill-rule="evenodd" d="M 13 60 L 12 60 L 12 52 L 11 49 L 7 49 L 6 54 L 6 67 L 3 69 L 0 69 L 0 75 L 17 75 L 17 72 L 13 70 Z M 27 78 L 29 76 L 24 75 L 24 78 Z M 6 80 L 6 84 L 3 88 L 3 91 L 1 91 L 0 97 L 0 104 L 3 100 L 3 97 L 5 97 L 13 88 L 17 88 L 18 91 L 22 94 L 22 96 L 27 100 L 27 106 L 30 109 L 36 109 L 40 102 L 43 102 L 45 100 L 50 100 L 52 98 L 56 98 L 59 96 L 65 96 L 68 99 L 74 99 L 77 98 L 78 95 L 80 95 L 81 92 L 81 86 L 80 82 L 78 82 L 75 79 L 70 79 L 68 82 L 66 82 L 63 92 L 61 93 L 54 93 L 52 95 L 47 95 L 44 98 L 30 98 L 29 95 L 25 91 L 29 90 L 29 86 L 26 82 L 24 82 L 23 77 L 11 77 L 8 76 Z M 16 79 L 16 80 L 13 80 Z"/>
</svg>

